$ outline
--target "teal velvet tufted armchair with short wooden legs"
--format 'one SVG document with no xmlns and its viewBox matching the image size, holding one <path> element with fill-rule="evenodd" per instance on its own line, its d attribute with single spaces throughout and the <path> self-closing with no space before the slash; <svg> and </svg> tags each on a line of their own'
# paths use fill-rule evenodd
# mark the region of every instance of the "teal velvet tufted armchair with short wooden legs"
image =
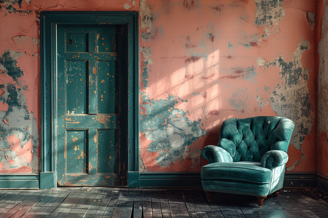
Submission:
<svg viewBox="0 0 328 218">
<path fill-rule="evenodd" d="M 213 192 L 254 195 L 262 207 L 264 198 L 278 196 L 282 188 L 287 149 L 294 123 L 284 117 L 230 118 L 223 122 L 217 146 L 208 145 L 201 169 L 207 199 Z"/>
</svg>

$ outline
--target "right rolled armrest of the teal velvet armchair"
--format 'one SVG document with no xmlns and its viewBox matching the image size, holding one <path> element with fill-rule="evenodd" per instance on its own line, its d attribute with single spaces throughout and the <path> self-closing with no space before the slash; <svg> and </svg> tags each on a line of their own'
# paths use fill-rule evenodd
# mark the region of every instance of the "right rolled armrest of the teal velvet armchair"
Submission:
<svg viewBox="0 0 328 218">
<path fill-rule="evenodd" d="M 261 159 L 261 167 L 272 170 L 273 168 L 287 163 L 288 155 L 284 151 L 271 150 L 266 152 Z"/>
</svg>

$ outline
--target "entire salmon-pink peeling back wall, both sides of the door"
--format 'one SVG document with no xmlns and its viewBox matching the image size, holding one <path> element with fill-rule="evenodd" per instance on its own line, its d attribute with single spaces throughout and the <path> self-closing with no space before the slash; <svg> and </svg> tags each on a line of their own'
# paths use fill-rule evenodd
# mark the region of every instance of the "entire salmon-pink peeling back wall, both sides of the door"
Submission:
<svg viewBox="0 0 328 218">
<path fill-rule="evenodd" d="M 198 172 L 207 163 L 202 149 L 217 144 L 222 122 L 252 116 L 293 120 L 286 170 L 316 171 L 315 1 L 5 0 L 0 6 L 0 173 L 40 171 L 43 10 L 139 11 L 140 171 Z"/>
</svg>

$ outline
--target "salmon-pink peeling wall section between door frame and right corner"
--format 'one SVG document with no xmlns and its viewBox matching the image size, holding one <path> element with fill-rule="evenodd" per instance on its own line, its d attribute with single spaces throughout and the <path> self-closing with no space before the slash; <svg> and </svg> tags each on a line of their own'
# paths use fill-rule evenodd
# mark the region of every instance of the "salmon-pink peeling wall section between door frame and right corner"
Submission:
<svg viewBox="0 0 328 218">
<path fill-rule="evenodd" d="M 139 12 L 140 171 L 199 171 L 189 154 L 217 144 L 224 120 L 261 115 L 296 124 L 287 172 L 315 171 L 315 2 L 147 0 Z M 197 141 L 162 125 L 176 113 L 158 102 L 176 96 Z"/>
</svg>

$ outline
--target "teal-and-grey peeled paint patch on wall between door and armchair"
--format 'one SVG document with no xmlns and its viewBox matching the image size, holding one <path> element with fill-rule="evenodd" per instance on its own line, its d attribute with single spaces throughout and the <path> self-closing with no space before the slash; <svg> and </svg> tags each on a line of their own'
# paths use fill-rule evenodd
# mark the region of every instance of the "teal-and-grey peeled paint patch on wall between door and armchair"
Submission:
<svg viewBox="0 0 328 218">
<path fill-rule="evenodd" d="M 165 99 L 150 99 L 142 95 L 140 106 L 139 131 L 153 141 L 149 144 L 148 152 L 157 152 L 157 165 L 167 167 L 175 160 L 182 161 L 188 147 L 196 142 L 199 137 L 205 136 L 209 131 L 202 129 L 200 120 L 189 120 L 187 113 L 175 108 L 180 99 L 169 94 Z"/>
</svg>

